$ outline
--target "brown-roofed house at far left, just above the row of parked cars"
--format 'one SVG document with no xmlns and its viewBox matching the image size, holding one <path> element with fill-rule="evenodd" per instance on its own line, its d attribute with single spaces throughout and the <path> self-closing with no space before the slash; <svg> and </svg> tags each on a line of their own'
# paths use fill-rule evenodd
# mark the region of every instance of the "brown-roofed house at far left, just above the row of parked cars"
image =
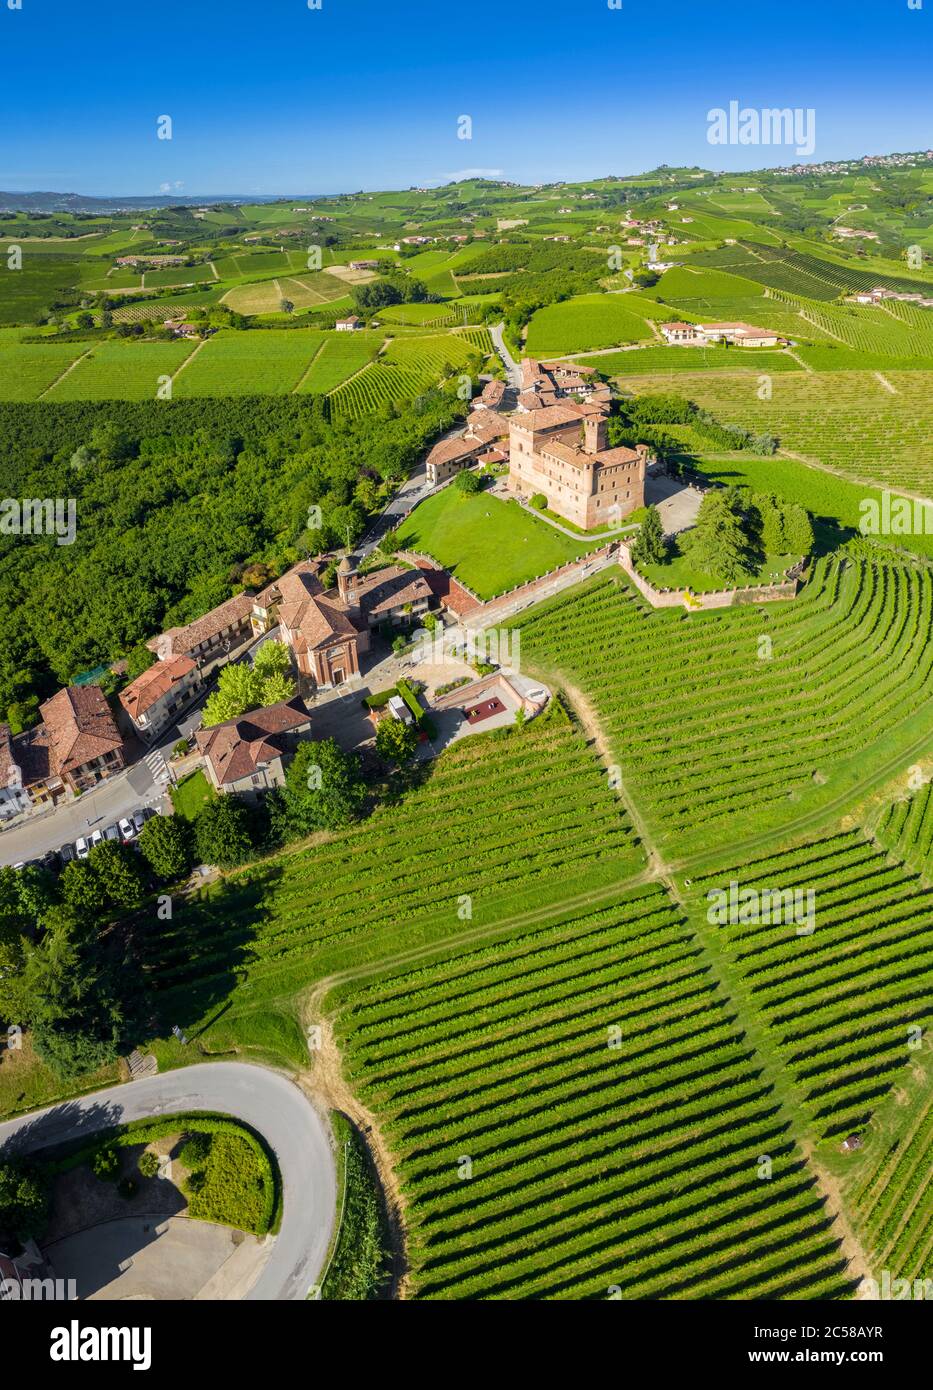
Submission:
<svg viewBox="0 0 933 1390">
<path fill-rule="evenodd" d="M 99 685 L 68 685 L 39 712 L 50 771 L 71 791 L 86 791 L 125 767 L 124 741 Z"/>
</svg>

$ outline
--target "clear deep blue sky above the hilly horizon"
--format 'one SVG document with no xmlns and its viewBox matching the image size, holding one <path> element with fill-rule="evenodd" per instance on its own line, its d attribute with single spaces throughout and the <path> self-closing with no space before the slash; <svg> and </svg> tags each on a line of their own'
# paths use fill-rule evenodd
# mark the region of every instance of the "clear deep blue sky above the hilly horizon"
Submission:
<svg viewBox="0 0 933 1390">
<path fill-rule="evenodd" d="M 21 3 L 0 0 L 11 190 L 321 193 L 793 161 L 711 146 L 706 113 L 730 100 L 812 107 L 815 160 L 933 145 L 933 0 Z"/>
</svg>

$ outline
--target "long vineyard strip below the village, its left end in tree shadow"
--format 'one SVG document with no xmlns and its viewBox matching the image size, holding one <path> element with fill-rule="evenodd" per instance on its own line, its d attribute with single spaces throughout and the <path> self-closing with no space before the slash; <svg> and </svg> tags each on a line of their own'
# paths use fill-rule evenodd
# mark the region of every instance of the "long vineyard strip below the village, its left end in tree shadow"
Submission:
<svg viewBox="0 0 933 1390">
<path fill-rule="evenodd" d="M 605 895 L 644 867 L 616 794 L 560 706 L 420 766 L 398 802 L 310 853 L 234 874 L 140 942 L 167 1013 L 200 1016 L 236 972 L 246 986 L 238 1002 L 264 1015 L 266 991 L 278 999 L 324 969 L 378 960 L 399 938 L 456 937 L 541 903 Z M 463 922 L 462 894 L 471 902 Z"/>
</svg>

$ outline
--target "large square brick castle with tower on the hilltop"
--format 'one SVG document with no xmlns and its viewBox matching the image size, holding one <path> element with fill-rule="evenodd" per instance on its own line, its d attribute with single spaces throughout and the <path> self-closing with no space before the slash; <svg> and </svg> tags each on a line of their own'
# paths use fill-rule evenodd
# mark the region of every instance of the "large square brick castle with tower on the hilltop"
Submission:
<svg viewBox="0 0 933 1390">
<path fill-rule="evenodd" d="M 509 486 L 542 493 L 548 507 L 584 530 L 617 524 L 644 506 L 648 446 L 609 448 L 599 406 L 562 400 L 512 416 Z"/>
</svg>

